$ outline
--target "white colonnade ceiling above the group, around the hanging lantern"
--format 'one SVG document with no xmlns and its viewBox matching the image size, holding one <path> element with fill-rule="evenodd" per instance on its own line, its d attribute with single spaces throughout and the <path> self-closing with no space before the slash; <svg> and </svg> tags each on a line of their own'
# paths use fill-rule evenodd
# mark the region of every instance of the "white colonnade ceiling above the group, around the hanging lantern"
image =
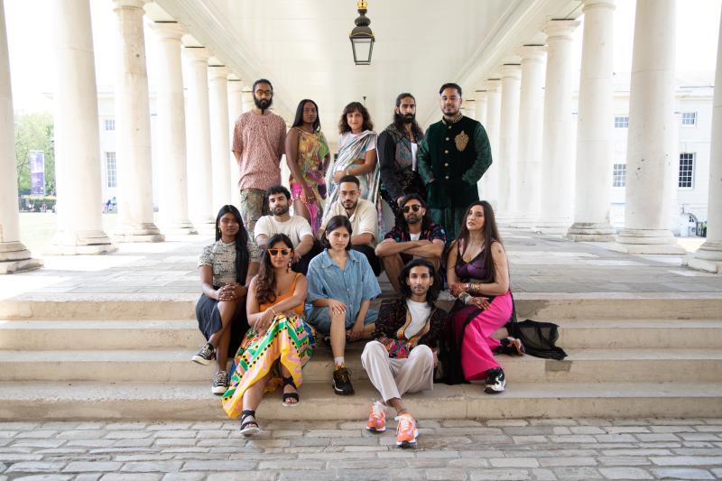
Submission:
<svg viewBox="0 0 722 481">
<path fill-rule="evenodd" d="M 580 14 L 580 0 L 369 0 L 373 60 L 356 66 L 348 41 L 356 0 L 156 3 L 246 83 L 271 79 L 287 122 L 301 98 L 315 100 L 330 138 L 343 107 L 362 97 L 383 128 L 402 91 L 414 94 L 428 125 L 440 116 L 442 83 L 457 81 L 469 99 L 502 62 L 514 61 L 515 48 L 543 42 L 543 23 Z"/>
</svg>

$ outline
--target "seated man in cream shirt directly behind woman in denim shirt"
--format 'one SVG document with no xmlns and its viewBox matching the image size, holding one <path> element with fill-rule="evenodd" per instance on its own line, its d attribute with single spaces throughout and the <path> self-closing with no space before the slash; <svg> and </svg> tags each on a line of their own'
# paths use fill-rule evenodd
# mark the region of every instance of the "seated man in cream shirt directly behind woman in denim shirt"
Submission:
<svg viewBox="0 0 722 481">
<path fill-rule="evenodd" d="M 381 261 L 375 254 L 378 213 L 376 206 L 366 199 L 360 199 L 361 183 L 353 175 L 345 175 L 338 182 L 338 200 L 329 206 L 323 216 L 317 237 L 321 239 L 326 231 L 326 223 L 334 216 L 346 216 L 351 222 L 354 234 L 351 236 L 352 248 L 366 255 L 368 264 L 376 277 L 381 273 Z"/>
</svg>

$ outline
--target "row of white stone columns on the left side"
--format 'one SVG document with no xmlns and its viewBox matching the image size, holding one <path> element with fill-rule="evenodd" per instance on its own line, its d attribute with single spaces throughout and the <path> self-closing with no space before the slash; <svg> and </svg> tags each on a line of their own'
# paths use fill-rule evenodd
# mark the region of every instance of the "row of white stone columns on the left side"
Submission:
<svg viewBox="0 0 722 481">
<path fill-rule="evenodd" d="M 160 227 L 153 221 L 153 172 L 143 16 L 149 0 L 113 0 L 116 18 L 116 242 L 159 242 L 165 234 L 211 231 L 215 210 L 236 198 L 230 151 L 236 116 L 253 106 L 250 92 L 212 52 L 185 45 L 176 22 L 147 22 L 158 43 L 157 154 L 162 175 Z M 58 74 L 54 88 L 58 229 L 47 254 L 116 251 L 101 217 L 97 88 L 88 0 L 53 2 Z M 20 241 L 15 174 L 13 98 L 0 0 L 0 273 L 36 268 Z M 181 55 L 182 52 L 182 55 Z M 181 58 L 185 60 L 181 62 Z M 181 65 L 185 63 L 185 72 Z M 188 101 L 184 98 L 184 84 Z M 244 99 L 244 96 L 246 98 Z M 186 135 L 193 132 L 193 135 Z M 193 179 L 189 189 L 189 177 Z M 231 179 L 229 182 L 228 179 Z M 193 220 L 191 223 L 190 219 Z"/>
</svg>

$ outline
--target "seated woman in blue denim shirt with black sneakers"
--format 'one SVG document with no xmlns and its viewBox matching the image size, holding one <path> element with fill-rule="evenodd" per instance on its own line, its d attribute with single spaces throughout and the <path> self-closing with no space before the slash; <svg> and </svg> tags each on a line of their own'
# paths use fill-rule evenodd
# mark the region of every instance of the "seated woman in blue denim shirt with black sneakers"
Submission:
<svg viewBox="0 0 722 481">
<path fill-rule="evenodd" d="M 333 352 L 333 389 L 353 394 L 344 364 L 346 338 L 371 338 L 378 311 L 369 309 L 381 293 L 366 256 L 351 249 L 351 223 L 346 216 L 329 218 L 323 234 L 326 249 L 309 264 L 306 319 L 323 335 L 330 335 Z"/>
</svg>

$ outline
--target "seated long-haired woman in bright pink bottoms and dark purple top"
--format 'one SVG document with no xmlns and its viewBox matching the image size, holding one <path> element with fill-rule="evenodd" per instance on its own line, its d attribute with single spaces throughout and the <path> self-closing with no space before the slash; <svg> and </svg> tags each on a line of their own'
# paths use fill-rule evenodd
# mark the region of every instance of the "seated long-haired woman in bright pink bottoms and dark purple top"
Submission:
<svg viewBox="0 0 722 481">
<path fill-rule="evenodd" d="M 449 315 L 444 375 L 449 384 L 484 380 L 486 393 L 502 393 L 504 370 L 494 355 L 523 354 L 519 339 L 492 338 L 514 310 L 509 264 L 491 205 L 474 202 L 464 219 L 447 261 L 449 291 L 457 302 Z"/>
</svg>

